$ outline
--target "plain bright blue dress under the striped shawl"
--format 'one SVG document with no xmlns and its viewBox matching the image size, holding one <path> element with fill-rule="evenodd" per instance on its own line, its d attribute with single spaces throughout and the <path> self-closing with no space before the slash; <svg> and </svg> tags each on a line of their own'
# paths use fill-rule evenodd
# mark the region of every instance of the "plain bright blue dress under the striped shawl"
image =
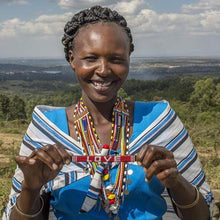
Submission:
<svg viewBox="0 0 220 220">
<path fill-rule="evenodd" d="M 130 141 L 134 140 L 148 125 L 153 123 L 166 107 L 167 104 L 162 102 L 136 102 L 134 108 L 133 134 Z M 63 132 L 69 133 L 64 108 L 44 114 Z M 116 168 L 117 167 L 110 172 L 112 177 L 115 176 Z M 125 195 L 125 202 L 120 206 L 119 218 L 140 220 L 162 219 L 163 214 L 166 212 L 166 202 L 161 197 L 164 187 L 156 177 L 153 177 L 150 183 L 146 183 L 145 173 L 142 167 L 131 164 L 128 169 L 133 170 L 133 175 L 129 176 L 132 184 L 128 185 L 130 193 L 129 195 Z M 90 182 L 90 177 L 87 176 L 61 189 L 52 191 L 54 199 L 51 200 L 51 205 L 58 219 L 108 219 L 107 214 L 102 208 L 99 212 L 99 203 L 90 212 L 78 214 L 86 197 Z"/>
</svg>

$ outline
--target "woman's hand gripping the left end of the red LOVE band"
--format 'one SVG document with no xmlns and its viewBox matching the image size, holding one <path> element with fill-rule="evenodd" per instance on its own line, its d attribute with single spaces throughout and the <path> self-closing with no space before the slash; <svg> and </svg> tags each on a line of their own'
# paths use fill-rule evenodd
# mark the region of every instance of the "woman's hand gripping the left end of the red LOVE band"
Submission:
<svg viewBox="0 0 220 220">
<path fill-rule="evenodd" d="M 22 188 L 40 190 L 54 179 L 64 164 L 69 164 L 71 154 L 60 145 L 36 148 L 30 156 L 15 156 L 15 161 L 24 174 Z"/>
</svg>

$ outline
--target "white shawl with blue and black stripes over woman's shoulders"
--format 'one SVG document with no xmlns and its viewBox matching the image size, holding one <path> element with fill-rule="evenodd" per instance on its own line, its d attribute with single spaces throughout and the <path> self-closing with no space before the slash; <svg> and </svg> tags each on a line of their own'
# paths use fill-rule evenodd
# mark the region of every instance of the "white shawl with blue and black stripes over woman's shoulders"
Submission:
<svg viewBox="0 0 220 220">
<path fill-rule="evenodd" d="M 209 185 L 206 182 L 204 172 L 201 168 L 200 161 L 197 157 L 194 146 L 187 134 L 186 129 L 176 116 L 175 112 L 166 104 L 164 111 L 141 132 L 130 144 L 129 150 L 131 154 L 136 154 L 145 144 L 164 146 L 174 153 L 175 160 L 178 164 L 180 173 L 193 185 L 199 188 L 210 208 L 212 216 L 213 196 Z M 143 107 L 146 106 L 143 105 Z M 55 107 L 37 106 L 33 113 L 33 121 L 28 127 L 24 141 L 21 145 L 20 154 L 29 155 L 33 149 L 42 147 L 46 144 L 58 143 L 67 151 L 74 155 L 81 155 L 82 149 L 78 142 L 70 136 L 62 132 L 43 114 L 45 111 L 55 110 Z M 49 192 L 61 187 L 64 187 L 74 181 L 87 176 L 83 169 L 86 167 L 84 163 L 71 163 L 64 166 L 58 176 L 42 187 L 42 192 Z M 23 180 L 22 172 L 19 168 L 16 169 L 13 177 L 13 185 L 9 202 L 5 209 L 3 220 L 9 219 L 12 207 L 16 202 L 16 198 L 21 191 L 21 182 Z M 171 199 L 165 190 L 162 194 L 167 202 L 167 212 L 163 219 L 172 220 L 179 219 L 171 202 Z M 50 212 L 50 219 L 54 219 L 53 210 Z"/>
</svg>

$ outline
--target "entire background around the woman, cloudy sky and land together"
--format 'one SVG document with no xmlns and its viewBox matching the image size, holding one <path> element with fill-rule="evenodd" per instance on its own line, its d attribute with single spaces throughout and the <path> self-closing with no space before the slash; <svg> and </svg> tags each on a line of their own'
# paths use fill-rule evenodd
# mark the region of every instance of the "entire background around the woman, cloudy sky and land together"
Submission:
<svg viewBox="0 0 220 220">
<path fill-rule="evenodd" d="M 119 11 L 133 35 L 129 80 L 120 95 L 170 102 L 220 207 L 219 0 L 0 0 L 0 217 L 34 106 L 68 106 L 80 97 L 63 60 L 63 27 L 97 4 Z"/>
</svg>

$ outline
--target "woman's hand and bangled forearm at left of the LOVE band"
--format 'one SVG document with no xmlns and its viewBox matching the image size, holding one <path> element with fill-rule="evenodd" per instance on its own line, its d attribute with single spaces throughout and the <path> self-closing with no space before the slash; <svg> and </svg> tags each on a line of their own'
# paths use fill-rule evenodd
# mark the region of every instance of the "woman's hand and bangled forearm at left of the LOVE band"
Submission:
<svg viewBox="0 0 220 220">
<path fill-rule="evenodd" d="M 32 219 L 47 219 L 49 196 L 40 196 L 41 188 L 70 162 L 70 154 L 59 145 L 47 145 L 36 149 L 30 156 L 16 156 L 15 160 L 24 180 L 10 219 L 24 220 L 31 216 Z"/>
</svg>

